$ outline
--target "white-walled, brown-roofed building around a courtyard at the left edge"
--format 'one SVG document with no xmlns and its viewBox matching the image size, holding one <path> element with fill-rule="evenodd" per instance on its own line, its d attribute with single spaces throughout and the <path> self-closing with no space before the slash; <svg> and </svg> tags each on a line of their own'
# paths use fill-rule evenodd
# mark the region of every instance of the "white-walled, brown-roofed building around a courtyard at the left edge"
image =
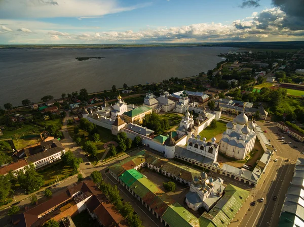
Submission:
<svg viewBox="0 0 304 227">
<path fill-rule="evenodd" d="M 15 153 L 20 160 L 0 168 L 0 175 L 10 170 L 21 170 L 31 163 L 39 169 L 61 159 L 62 153 L 65 153 L 65 149 L 57 139 L 28 146 Z"/>
</svg>

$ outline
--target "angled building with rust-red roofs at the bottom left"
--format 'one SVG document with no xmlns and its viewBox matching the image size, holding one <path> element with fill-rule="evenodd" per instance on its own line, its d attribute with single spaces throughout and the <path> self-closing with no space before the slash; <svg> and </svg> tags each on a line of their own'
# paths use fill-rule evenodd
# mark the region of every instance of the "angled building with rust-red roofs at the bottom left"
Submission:
<svg viewBox="0 0 304 227">
<path fill-rule="evenodd" d="M 12 224 L 14 227 L 42 226 L 50 219 L 60 221 L 66 216 L 74 217 L 83 211 L 88 211 L 101 226 L 129 226 L 91 179 L 67 186 L 63 192 L 53 195 L 51 199 L 24 213 L 12 215 Z"/>
</svg>

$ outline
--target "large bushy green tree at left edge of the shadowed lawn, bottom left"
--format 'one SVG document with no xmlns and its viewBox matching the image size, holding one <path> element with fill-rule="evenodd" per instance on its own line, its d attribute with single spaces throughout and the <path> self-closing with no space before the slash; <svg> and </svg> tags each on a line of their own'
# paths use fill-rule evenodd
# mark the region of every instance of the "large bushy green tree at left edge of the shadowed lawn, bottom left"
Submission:
<svg viewBox="0 0 304 227">
<path fill-rule="evenodd" d="M 35 166 L 30 164 L 18 171 L 18 182 L 21 188 L 30 194 L 38 191 L 44 185 L 44 178 L 43 175 L 36 172 Z"/>
</svg>

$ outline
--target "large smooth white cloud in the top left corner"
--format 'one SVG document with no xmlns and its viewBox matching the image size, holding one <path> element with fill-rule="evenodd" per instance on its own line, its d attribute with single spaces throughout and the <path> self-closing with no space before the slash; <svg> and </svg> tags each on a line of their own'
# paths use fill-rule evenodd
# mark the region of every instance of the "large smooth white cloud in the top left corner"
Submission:
<svg viewBox="0 0 304 227">
<path fill-rule="evenodd" d="M 117 0 L 14 0 L 0 1 L 0 15 L 2 18 L 93 18 L 149 5 L 121 7 Z"/>
</svg>

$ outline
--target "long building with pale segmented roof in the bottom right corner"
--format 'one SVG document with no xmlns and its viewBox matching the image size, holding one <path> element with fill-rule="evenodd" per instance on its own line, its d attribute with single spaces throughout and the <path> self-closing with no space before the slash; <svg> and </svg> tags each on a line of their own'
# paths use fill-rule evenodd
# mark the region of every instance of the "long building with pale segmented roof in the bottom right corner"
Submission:
<svg viewBox="0 0 304 227">
<path fill-rule="evenodd" d="M 304 159 L 295 163 L 293 178 L 285 196 L 278 227 L 304 226 Z"/>
</svg>

